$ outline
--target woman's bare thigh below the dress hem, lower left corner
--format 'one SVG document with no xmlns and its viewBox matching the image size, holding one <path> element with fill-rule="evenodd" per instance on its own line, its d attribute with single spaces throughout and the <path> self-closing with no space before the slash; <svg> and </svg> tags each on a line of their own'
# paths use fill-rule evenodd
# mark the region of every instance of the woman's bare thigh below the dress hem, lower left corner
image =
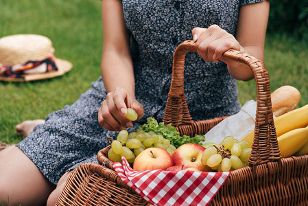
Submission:
<svg viewBox="0 0 308 206">
<path fill-rule="evenodd" d="M 45 205 L 55 189 L 16 146 L 0 152 L 0 205 Z"/>
</svg>

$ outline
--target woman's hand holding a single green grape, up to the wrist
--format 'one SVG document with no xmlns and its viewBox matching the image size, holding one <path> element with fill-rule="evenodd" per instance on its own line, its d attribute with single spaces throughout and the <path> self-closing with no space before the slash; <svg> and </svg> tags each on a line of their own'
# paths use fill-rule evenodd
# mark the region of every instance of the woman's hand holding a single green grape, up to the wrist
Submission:
<svg viewBox="0 0 308 206">
<path fill-rule="evenodd" d="M 143 106 L 128 93 L 126 89 L 117 87 L 107 94 L 106 100 L 98 111 L 98 122 L 110 131 L 119 131 L 132 127 L 132 121 L 126 117 L 127 108 L 132 108 L 138 114 L 138 119 L 143 117 Z"/>
</svg>

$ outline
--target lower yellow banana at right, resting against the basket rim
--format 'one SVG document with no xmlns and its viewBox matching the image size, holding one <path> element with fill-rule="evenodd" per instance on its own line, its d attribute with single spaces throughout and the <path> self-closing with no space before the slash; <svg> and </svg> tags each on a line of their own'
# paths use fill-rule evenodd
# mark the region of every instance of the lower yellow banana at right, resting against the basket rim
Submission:
<svg viewBox="0 0 308 206">
<path fill-rule="evenodd" d="M 308 126 L 296 128 L 277 138 L 281 157 L 290 157 L 308 142 Z"/>
</svg>

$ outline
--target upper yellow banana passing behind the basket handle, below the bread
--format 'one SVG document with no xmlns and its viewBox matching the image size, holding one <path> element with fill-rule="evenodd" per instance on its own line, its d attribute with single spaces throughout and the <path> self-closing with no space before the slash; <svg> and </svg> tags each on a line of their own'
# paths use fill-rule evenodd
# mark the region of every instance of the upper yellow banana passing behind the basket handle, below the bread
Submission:
<svg viewBox="0 0 308 206">
<path fill-rule="evenodd" d="M 277 137 L 280 137 L 291 130 L 308 126 L 308 104 L 276 117 L 274 119 L 274 124 Z M 254 130 L 242 140 L 247 141 L 251 147 L 253 138 Z"/>
</svg>

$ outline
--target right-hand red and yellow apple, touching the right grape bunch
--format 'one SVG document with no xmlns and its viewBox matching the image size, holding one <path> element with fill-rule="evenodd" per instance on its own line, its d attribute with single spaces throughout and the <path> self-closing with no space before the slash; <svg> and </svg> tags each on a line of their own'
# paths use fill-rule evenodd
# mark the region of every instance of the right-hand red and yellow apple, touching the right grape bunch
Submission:
<svg viewBox="0 0 308 206">
<path fill-rule="evenodd" d="M 172 154 L 174 165 L 185 165 L 188 168 L 196 168 L 199 171 L 211 171 L 211 168 L 201 163 L 204 150 L 205 148 L 198 144 L 183 144 Z"/>
</svg>

